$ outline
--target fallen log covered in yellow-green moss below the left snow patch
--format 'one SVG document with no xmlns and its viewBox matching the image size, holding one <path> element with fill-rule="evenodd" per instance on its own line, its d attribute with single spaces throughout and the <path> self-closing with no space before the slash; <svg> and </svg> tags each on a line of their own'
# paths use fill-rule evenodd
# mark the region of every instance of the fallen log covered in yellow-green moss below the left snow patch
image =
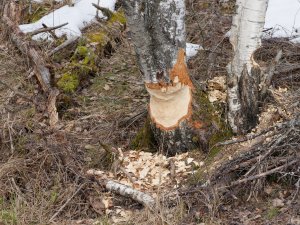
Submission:
<svg viewBox="0 0 300 225">
<path fill-rule="evenodd" d="M 57 80 L 58 88 L 65 93 L 73 93 L 89 82 L 89 78 L 101 68 L 101 59 L 110 57 L 121 43 L 122 33 L 125 30 L 126 19 L 122 11 L 113 13 L 109 20 L 101 21 L 86 30 L 83 37 L 78 40 L 69 63 L 62 70 Z M 71 52 L 68 50 L 68 52 Z M 53 55 L 54 61 L 60 61 L 63 51 Z"/>
</svg>

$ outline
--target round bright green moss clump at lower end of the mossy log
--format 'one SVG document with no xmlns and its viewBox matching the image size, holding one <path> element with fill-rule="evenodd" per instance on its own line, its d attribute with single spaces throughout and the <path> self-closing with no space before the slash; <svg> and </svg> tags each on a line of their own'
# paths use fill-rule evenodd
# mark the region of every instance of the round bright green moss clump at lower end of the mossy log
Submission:
<svg viewBox="0 0 300 225">
<path fill-rule="evenodd" d="M 57 86 L 66 93 L 73 93 L 79 86 L 79 77 L 77 74 L 65 73 L 58 80 Z"/>
</svg>

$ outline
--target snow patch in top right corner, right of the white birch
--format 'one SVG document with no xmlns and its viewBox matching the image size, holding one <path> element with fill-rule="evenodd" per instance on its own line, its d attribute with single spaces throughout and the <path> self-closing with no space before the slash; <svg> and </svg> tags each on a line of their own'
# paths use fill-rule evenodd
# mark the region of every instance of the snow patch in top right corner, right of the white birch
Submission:
<svg viewBox="0 0 300 225">
<path fill-rule="evenodd" d="M 265 28 L 273 37 L 292 37 L 300 42 L 300 0 L 269 0 Z"/>
</svg>

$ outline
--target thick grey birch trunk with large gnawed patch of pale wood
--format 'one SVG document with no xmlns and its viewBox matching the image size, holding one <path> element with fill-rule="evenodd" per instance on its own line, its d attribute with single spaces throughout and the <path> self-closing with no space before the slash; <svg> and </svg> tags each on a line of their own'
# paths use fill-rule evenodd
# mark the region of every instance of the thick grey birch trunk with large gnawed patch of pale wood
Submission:
<svg viewBox="0 0 300 225">
<path fill-rule="evenodd" d="M 184 0 L 123 1 L 140 71 L 150 94 L 154 135 L 170 155 L 193 146 L 192 89 L 186 66 Z"/>
</svg>

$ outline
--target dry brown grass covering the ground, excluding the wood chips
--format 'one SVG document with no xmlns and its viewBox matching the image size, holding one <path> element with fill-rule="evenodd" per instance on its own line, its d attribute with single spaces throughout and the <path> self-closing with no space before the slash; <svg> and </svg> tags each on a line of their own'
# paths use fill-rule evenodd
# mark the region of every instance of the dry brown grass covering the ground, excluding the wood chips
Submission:
<svg viewBox="0 0 300 225">
<path fill-rule="evenodd" d="M 189 63 L 192 78 L 201 89 L 205 89 L 207 79 L 226 75 L 231 46 L 224 34 L 230 28 L 232 2 L 224 5 L 218 1 L 187 0 L 188 39 L 206 49 Z M 26 60 L 12 49 L 7 43 L 0 45 L 1 81 L 42 102 L 34 78 L 27 78 Z M 289 70 L 291 64 L 298 65 L 298 45 L 272 39 L 264 42 L 256 57 L 266 65 L 278 49 L 283 49 L 284 54 L 274 85 L 299 88 L 299 69 Z M 112 57 L 103 58 L 100 65 L 99 73 L 88 85 L 71 97 L 67 95 L 69 105 L 60 99 L 60 126 L 53 130 L 47 126 L 42 104 L 35 107 L 0 84 L 0 221 L 47 224 L 59 212 L 53 219 L 57 224 L 75 224 L 79 220 L 81 224 L 95 221 L 109 224 L 107 216 L 95 211 L 90 202 L 91 197 L 101 197 L 105 191 L 87 179 L 85 171 L 107 166 L 108 162 L 100 157 L 103 149 L 99 140 L 130 148 L 145 121 L 142 112 L 148 96 L 133 48 L 126 40 Z M 105 90 L 105 85 L 110 89 Z M 291 92 L 288 98 L 292 106 L 299 101 L 299 91 Z M 276 106 L 276 101 L 271 99 L 268 104 Z M 294 114 L 298 109 L 296 105 L 290 112 Z M 94 148 L 88 149 L 87 145 Z M 234 200 L 235 192 L 231 190 L 225 195 L 213 187 L 208 191 L 196 190 L 186 190 L 173 199 L 161 196 L 154 211 L 141 211 L 139 205 L 120 196 L 113 198 L 116 208 L 134 211 L 128 224 L 222 224 L 222 220 L 229 223 L 239 215 L 235 210 L 245 206 L 240 205 L 243 196 L 238 195 L 239 200 Z"/>
</svg>

